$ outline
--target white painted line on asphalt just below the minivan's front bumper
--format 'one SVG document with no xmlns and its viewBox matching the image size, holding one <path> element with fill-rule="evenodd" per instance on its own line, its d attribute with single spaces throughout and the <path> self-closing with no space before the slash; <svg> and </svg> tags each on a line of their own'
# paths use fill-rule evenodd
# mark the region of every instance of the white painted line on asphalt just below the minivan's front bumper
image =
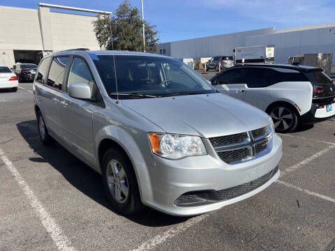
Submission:
<svg viewBox="0 0 335 251">
<path fill-rule="evenodd" d="M 186 229 L 192 227 L 196 223 L 204 220 L 204 218 L 207 218 L 211 213 L 207 213 L 204 215 L 197 216 L 195 218 L 191 218 L 190 220 L 187 220 L 184 223 L 181 223 L 175 228 L 170 228 L 168 231 L 165 231 L 163 234 L 158 234 L 154 238 L 151 238 L 149 241 L 145 241 L 142 243 L 138 248 L 132 250 L 132 251 L 144 251 L 144 250 L 152 250 L 156 247 L 156 245 L 159 245 L 168 239 L 172 238 L 173 236 L 176 236 L 181 231 L 185 231 Z"/>
</svg>

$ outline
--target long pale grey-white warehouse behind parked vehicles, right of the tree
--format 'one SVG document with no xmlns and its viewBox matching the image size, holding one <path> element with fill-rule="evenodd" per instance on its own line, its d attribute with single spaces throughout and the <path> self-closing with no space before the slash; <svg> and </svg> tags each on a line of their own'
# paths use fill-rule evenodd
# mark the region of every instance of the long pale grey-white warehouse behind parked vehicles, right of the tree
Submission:
<svg viewBox="0 0 335 251">
<path fill-rule="evenodd" d="M 232 56 L 235 47 L 252 45 L 275 45 L 275 63 L 286 63 L 289 56 L 307 53 L 332 53 L 335 56 L 335 23 L 278 30 L 271 27 L 160 43 L 158 53 L 178 59 Z"/>
</svg>

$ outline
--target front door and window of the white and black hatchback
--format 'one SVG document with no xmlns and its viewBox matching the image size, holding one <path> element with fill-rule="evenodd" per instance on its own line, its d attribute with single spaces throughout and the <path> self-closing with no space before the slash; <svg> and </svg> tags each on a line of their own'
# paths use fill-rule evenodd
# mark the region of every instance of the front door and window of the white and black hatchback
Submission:
<svg viewBox="0 0 335 251">
<path fill-rule="evenodd" d="M 244 100 L 247 88 L 245 71 L 242 68 L 226 70 L 212 81 L 212 85 L 223 94 Z"/>
</svg>

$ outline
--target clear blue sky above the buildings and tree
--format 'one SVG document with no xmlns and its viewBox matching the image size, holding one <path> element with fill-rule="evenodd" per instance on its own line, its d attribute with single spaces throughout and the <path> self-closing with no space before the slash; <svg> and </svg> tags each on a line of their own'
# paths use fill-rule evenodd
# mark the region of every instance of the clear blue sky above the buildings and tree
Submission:
<svg viewBox="0 0 335 251">
<path fill-rule="evenodd" d="M 282 29 L 335 22 L 334 0 L 143 1 L 144 19 L 156 24 L 160 42 L 271 26 Z M 121 0 L 2 0 L 0 5 L 37 8 L 39 2 L 114 11 Z M 131 3 L 140 8 L 140 0 Z"/>
</svg>

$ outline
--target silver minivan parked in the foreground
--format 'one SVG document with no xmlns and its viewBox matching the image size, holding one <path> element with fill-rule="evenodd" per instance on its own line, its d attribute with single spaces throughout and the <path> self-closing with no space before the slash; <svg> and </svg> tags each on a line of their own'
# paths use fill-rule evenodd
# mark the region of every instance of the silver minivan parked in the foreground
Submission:
<svg viewBox="0 0 335 251">
<path fill-rule="evenodd" d="M 42 143 L 57 140 L 100 173 L 119 213 L 198 215 L 280 174 L 271 118 L 168 56 L 57 52 L 40 62 L 34 100 Z"/>
</svg>

